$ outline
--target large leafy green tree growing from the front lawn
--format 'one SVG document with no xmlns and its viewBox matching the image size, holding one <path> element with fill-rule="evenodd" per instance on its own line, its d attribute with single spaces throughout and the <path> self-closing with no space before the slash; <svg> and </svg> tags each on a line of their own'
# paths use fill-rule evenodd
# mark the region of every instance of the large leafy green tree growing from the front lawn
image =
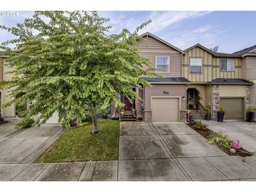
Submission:
<svg viewBox="0 0 256 192">
<path fill-rule="evenodd" d="M 59 121 L 67 128 L 74 118 L 80 124 L 89 113 L 92 133 L 97 133 L 99 107 L 105 109 L 110 101 L 123 106 L 117 94 L 138 99 L 132 86 L 141 89 L 149 83 L 140 76 L 156 76 L 150 61 L 140 57 L 137 49 L 137 41 L 144 41 L 138 32 L 150 21 L 133 32 L 123 29 L 107 35 L 108 21 L 94 11 L 37 11 L 17 27 L 0 26 L 17 37 L 1 46 L 9 55 L 6 65 L 14 68 L 12 81 L 2 86 L 11 90 L 10 97 L 26 92 L 4 107 L 30 103 L 22 121 L 41 114 L 38 125 L 58 111 Z M 15 44 L 15 49 L 9 44 Z M 147 70 L 141 69 L 143 65 Z"/>
</svg>

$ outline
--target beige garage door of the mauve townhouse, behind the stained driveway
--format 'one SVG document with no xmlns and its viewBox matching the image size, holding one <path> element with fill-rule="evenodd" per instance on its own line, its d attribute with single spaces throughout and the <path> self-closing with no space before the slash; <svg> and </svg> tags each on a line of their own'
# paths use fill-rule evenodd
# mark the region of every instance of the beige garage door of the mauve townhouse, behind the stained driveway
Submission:
<svg viewBox="0 0 256 192">
<path fill-rule="evenodd" d="M 153 121 L 179 121 L 179 98 L 153 98 Z"/>
</svg>

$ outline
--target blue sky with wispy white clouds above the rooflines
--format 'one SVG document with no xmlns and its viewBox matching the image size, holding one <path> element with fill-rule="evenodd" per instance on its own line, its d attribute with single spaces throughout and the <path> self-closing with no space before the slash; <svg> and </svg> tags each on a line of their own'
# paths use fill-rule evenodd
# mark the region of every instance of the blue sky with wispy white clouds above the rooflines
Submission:
<svg viewBox="0 0 256 192">
<path fill-rule="evenodd" d="M 19 11 L 18 16 L 0 16 L 0 25 L 8 27 L 31 17 L 33 11 Z M 152 20 L 140 34 L 148 31 L 182 50 L 200 43 L 207 48 L 219 46 L 218 52 L 233 53 L 256 44 L 256 11 L 100 11 L 109 18 L 119 33 L 123 28 L 134 30 L 140 23 Z M 0 42 L 13 36 L 1 30 Z"/>
</svg>

